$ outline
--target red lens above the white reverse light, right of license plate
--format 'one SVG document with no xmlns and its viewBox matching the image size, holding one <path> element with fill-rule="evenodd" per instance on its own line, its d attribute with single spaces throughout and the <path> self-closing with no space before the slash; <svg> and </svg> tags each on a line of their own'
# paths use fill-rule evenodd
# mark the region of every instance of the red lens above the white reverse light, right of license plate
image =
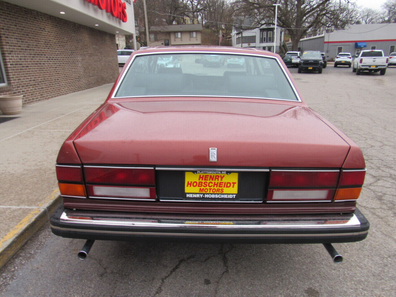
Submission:
<svg viewBox="0 0 396 297">
<path fill-rule="evenodd" d="M 338 170 L 271 170 L 269 187 L 336 187 Z"/>
</svg>

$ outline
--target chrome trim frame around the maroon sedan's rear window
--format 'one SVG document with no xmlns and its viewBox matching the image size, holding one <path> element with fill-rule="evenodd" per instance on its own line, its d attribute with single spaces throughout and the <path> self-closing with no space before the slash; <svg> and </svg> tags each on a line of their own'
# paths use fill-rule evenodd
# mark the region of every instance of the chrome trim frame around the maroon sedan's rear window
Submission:
<svg viewBox="0 0 396 297">
<path fill-rule="evenodd" d="M 135 57 L 139 56 L 144 56 L 144 55 L 162 55 L 162 54 L 180 54 L 180 53 L 209 53 L 209 54 L 216 54 L 216 55 L 241 55 L 241 56 L 252 56 L 252 57 L 265 57 L 269 59 L 275 59 L 276 62 L 278 63 L 278 66 L 282 70 L 284 76 L 286 77 L 287 82 L 289 83 L 291 89 L 293 89 L 294 95 L 296 96 L 297 100 L 290 100 L 290 99 L 273 99 L 273 98 L 262 98 L 262 97 L 238 97 L 238 96 L 213 96 L 213 95 L 160 95 L 160 96 L 129 96 L 129 97 L 115 97 L 118 88 L 120 87 L 120 84 L 123 82 L 125 75 L 129 71 L 129 68 L 131 67 L 133 60 Z M 278 57 L 274 57 L 272 55 L 260 55 L 260 54 L 253 54 L 253 53 L 234 53 L 234 52 L 228 52 L 228 51 L 160 51 L 160 52 L 154 52 L 154 53 L 133 53 L 133 57 L 131 61 L 128 63 L 126 69 L 124 70 L 124 73 L 120 77 L 120 80 L 118 81 L 116 88 L 114 88 L 114 91 L 110 97 L 110 99 L 122 99 L 122 98 L 145 98 L 145 97 L 213 97 L 213 98 L 248 98 L 248 99 L 261 99 L 261 100 L 280 100 L 280 101 L 289 101 L 289 102 L 303 102 L 299 96 L 299 93 L 297 92 L 297 89 L 295 88 L 293 82 L 290 79 L 290 76 L 287 74 L 286 70 L 282 66 L 280 60 Z"/>
</svg>

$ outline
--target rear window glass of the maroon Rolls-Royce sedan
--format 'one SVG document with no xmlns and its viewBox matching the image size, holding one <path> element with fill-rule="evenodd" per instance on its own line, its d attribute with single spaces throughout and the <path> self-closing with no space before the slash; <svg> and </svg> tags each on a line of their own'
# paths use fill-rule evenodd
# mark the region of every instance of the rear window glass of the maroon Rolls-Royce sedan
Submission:
<svg viewBox="0 0 396 297">
<path fill-rule="evenodd" d="M 138 55 L 115 97 L 214 96 L 298 101 L 275 58 L 211 53 Z"/>
</svg>

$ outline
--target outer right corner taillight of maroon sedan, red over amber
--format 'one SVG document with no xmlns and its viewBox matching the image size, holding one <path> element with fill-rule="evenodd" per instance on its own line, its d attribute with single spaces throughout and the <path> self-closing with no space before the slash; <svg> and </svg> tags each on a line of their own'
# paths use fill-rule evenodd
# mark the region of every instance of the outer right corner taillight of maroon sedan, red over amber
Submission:
<svg viewBox="0 0 396 297">
<path fill-rule="evenodd" d="M 362 190 L 366 169 L 343 169 L 334 201 L 357 200 Z"/>
</svg>

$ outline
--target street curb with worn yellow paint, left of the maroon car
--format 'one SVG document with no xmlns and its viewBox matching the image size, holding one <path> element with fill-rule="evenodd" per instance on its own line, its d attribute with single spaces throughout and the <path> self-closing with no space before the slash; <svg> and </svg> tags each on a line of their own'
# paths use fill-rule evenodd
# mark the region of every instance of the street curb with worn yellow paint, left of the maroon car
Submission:
<svg viewBox="0 0 396 297">
<path fill-rule="evenodd" d="M 9 242 L 5 242 L 4 246 L 0 248 L 0 268 L 24 246 L 24 244 L 46 223 L 48 218 L 55 211 L 57 206 L 61 203 L 61 196 L 50 200 L 46 205 L 40 206 L 38 214 L 23 227 Z M 47 215 L 48 212 L 48 215 Z"/>
</svg>

